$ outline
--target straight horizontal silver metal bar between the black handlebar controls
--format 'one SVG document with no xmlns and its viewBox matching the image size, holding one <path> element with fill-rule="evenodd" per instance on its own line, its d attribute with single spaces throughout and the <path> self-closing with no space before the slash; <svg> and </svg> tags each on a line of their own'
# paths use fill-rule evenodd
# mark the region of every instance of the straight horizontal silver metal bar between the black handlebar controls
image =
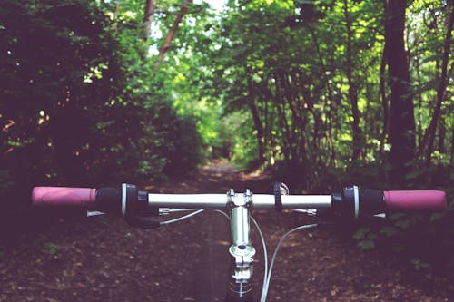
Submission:
<svg viewBox="0 0 454 302">
<path fill-rule="evenodd" d="M 241 197 L 242 198 L 242 197 Z M 252 195 L 253 209 L 274 209 L 274 195 Z M 282 195 L 282 209 L 327 209 L 331 195 Z M 225 194 L 148 194 L 148 204 L 159 208 L 225 209 Z"/>
</svg>

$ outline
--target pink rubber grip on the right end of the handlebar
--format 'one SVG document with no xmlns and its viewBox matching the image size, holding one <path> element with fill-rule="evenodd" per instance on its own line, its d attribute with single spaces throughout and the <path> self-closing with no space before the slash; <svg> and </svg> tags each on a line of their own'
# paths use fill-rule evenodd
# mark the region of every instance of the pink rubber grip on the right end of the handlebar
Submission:
<svg viewBox="0 0 454 302">
<path fill-rule="evenodd" d="M 384 191 L 388 209 L 395 211 L 444 211 L 446 193 L 441 190 L 388 190 Z"/>
</svg>

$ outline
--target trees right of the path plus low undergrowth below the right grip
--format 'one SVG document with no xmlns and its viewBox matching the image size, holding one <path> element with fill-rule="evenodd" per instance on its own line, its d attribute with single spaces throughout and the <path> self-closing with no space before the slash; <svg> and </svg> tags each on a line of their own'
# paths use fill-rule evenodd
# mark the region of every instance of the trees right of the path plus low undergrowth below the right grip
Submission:
<svg viewBox="0 0 454 302">
<path fill-rule="evenodd" d="M 222 134 L 232 159 L 242 165 L 258 161 L 293 189 L 326 192 L 355 183 L 383 190 L 447 190 L 451 197 L 452 102 L 443 103 L 431 164 L 413 163 L 403 187 L 391 181 L 385 114 L 392 108 L 384 112 L 382 94 L 389 102 L 390 79 L 386 65 L 381 67 L 383 11 L 382 4 L 374 1 L 229 2 L 222 18 L 210 27 L 212 44 L 195 41 L 192 47 L 200 51 L 199 69 L 208 71 L 199 82 L 204 100 L 222 100 L 222 121 L 235 121 L 229 128 L 234 135 Z M 346 61 L 346 12 L 351 20 L 351 65 Z M 407 10 L 405 39 L 419 148 L 424 147 L 439 87 L 448 13 L 444 1 L 411 1 Z M 355 161 L 349 68 L 362 135 Z M 355 237 L 360 248 L 389 242 L 390 249 L 426 263 L 434 241 L 452 251 L 447 248 L 454 243 L 450 232 L 440 227 L 453 229 L 451 217 L 451 212 L 395 214 L 383 227 L 360 229 Z M 439 234 L 438 241 L 434 234 Z M 421 241 L 424 248 L 414 248 Z"/>
</svg>

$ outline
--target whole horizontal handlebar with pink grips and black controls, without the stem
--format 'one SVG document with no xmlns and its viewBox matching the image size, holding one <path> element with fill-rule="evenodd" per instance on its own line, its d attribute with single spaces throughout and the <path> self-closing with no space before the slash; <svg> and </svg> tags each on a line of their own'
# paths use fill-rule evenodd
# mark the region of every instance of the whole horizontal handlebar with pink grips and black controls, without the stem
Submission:
<svg viewBox="0 0 454 302">
<path fill-rule="evenodd" d="M 228 205 L 225 194 L 148 194 L 127 184 L 100 189 L 36 187 L 32 199 L 33 205 L 39 207 L 75 207 L 122 215 L 135 225 L 138 212 L 151 214 L 150 209 L 157 214 L 158 208 L 225 209 Z M 332 209 L 351 218 L 390 211 L 434 212 L 447 208 L 446 193 L 439 190 L 381 191 L 356 186 L 332 195 L 283 195 L 280 200 L 281 209 Z M 254 209 L 278 209 L 276 203 L 275 195 L 252 196 Z"/>
</svg>

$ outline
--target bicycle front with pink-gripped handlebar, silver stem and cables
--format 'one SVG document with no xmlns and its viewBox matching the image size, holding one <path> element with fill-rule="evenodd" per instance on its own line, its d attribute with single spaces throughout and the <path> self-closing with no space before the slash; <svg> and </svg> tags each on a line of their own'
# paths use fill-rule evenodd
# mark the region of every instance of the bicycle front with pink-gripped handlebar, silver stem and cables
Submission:
<svg viewBox="0 0 454 302">
<path fill-rule="evenodd" d="M 283 183 L 275 183 L 273 194 L 252 194 L 246 190 L 237 194 L 153 194 L 138 190 L 136 186 L 123 183 L 118 188 L 67 188 L 36 187 L 32 193 L 33 205 L 37 207 L 73 207 L 87 209 L 88 216 L 114 214 L 123 217 L 136 228 L 154 229 L 183 219 L 191 218 L 203 210 L 215 210 L 230 219 L 232 257 L 231 278 L 225 301 L 252 301 L 252 275 L 255 248 L 251 240 L 251 221 L 258 229 L 264 253 L 264 278 L 260 301 L 266 301 L 275 258 L 284 239 L 292 232 L 321 226 L 321 223 L 300 226 L 285 233 L 275 248 L 270 265 L 265 240 L 258 223 L 252 218 L 253 210 L 283 209 L 315 215 L 328 210 L 342 219 L 359 219 L 382 215 L 390 211 L 442 211 L 447 208 L 446 193 L 439 190 L 380 191 L 360 189 L 358 186 L 344 188 L 331 195 L 289 195 Z M 227 213 L 224 212 L 227 211 Z M 150 217 L 165 216 L 175 212 L 190 211 L 177 219 L 156 221 Z"/>
</svg>

